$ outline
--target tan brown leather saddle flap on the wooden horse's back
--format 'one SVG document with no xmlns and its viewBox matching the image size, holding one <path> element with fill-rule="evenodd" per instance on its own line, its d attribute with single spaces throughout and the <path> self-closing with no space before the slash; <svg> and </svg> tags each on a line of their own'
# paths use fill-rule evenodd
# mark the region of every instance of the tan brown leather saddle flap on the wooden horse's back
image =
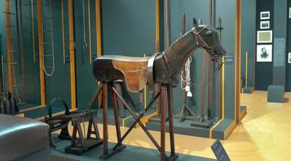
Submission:
<svg viewBox="0 0 291 161">
<path fill-rule="evenodd" d="M 129 91 L 141 91 L 147 84 L 149 59 L 150 57 L 119 56 L 112 60 L 113 67 L 123 73 Z"/>
</svg>

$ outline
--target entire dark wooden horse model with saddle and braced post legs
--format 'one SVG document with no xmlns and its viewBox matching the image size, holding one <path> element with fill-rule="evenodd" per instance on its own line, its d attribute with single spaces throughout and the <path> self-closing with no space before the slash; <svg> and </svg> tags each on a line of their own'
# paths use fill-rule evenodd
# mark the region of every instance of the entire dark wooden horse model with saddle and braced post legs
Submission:
<svg viewBox="0 0 291 161">
<path fill-rule="evenodd" d="M 127 57 L 127 56 L 101 56 L 96 58 L 93 62 L 93 75 L 97 81 L 101 84 L 98 86 L 96 95 L 102 91 L 103 95 L 103 159 L 112 156 L 113 154 L 121 151 L 125 148 L 122 145 L 122 141 L 129 134 L 131 129 L 139 124 L 145 134 L 148 135 L 154 145 L 160 151 L 160 160 L 175 160 L 178 155 L 175 153 L 174 148 L 174 129 L 173 129 L 173 113 L 172 113 L 172 86 L 176 86 L 179 83 L 177 77 L 181 74 L 183 66 L 185 65 L 188 57 L 190 57 L 196 49 L 202 48 L 209 53 L 212 61 L 218 62 L 222 65 L 222 58 L 225 56 L 226 51 L 219 42 L 219 37 L 213 27 L 208 25 L 198 25 L 196 20 L 195 27 L 192 30 L 183 34 L 177 39 L 174 44 L 162 52 L 157 53 L 154 56 L 139 58 L 139 57 Z M 153 96 L 148 106 L 145 108 L 145 112 L 153 105 L 156 99 L 161 95 L 161 142 L 160 145 L 155 141 L 153 136 L 148 132 L 141 118 L 145 115 L 142 112 L 140 115 L 135 115 L 129 108 L 129 105 L 122 95 L 114 88 L 113 83 L 116 81 L 122 81 L 126 84 L 127 89 L 131 92 L 141 91 L 145 85 L 148 84 L 150 91 L 153 91 L 154 84 L 162 84 L 160 91 Z M 108 88 L 109 87 L 109 88 Z M 115 127 L 117 131 L 117 144 L 108 151 L 108 89 L 112 92 L 112 104 L 115 116 Z M 171 143 L 171 155 L 168 157 L 165 154 L 165 91 L 167 91 L 167 105 L 169 115 L 169 136 Z M 124 91 L 127 92 L 127 91 Z M 128 131 L 121 136 L 118 114 L 117 114 L 117 98 L 122 101 L 124 107 L 129 110 L 131 115 L 136 120 L 134 124 L 128 129 Z"/>
</svg>

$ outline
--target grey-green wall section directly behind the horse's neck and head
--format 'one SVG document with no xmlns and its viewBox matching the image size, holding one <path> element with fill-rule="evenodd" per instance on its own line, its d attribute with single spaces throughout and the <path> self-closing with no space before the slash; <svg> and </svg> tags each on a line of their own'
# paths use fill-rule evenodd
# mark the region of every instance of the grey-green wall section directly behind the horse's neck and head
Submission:
<svg viewBox="0 0 291 161">
<path fill-rule="evenodd" d="M 176 37 L 179 37 L 182 32 L 182 15 L 186 14 L 186 32 L 193 28 L 193 18 L 197 20 L 201 19 L 202 22 L 208 24 L 208 13 L 209 13 L 209 1 L 199 1 L 199 0 L 171 0 L 169 1 L 169 11 L 170 11 L 170 38 L 171 42 L 174 42 Z M 202 91 L 202 50 L 198 49 L 193 53 L 192 62 L 190 64 L 190 77 L 191 81 L 195 86 L 191 86 L 191 92 L 193 94 L 195 106 L 191 109 L 197 113 L 200 112 L 201 105 L 201 91 Z M 181 77 L 179 77 L 181 82 Z M 206 78 L 207 79 L 207 78 Z M 207 100 L 207 89 L 205 89 L 205 100 Z M 179 112 L 179 108 L 183 105 L 183 91 L 181 85 L 179 84 L 173 90 L 173 103 L 174 112 Z M 207 103 L 205 103 L 205 108 Z"/>
</svg>

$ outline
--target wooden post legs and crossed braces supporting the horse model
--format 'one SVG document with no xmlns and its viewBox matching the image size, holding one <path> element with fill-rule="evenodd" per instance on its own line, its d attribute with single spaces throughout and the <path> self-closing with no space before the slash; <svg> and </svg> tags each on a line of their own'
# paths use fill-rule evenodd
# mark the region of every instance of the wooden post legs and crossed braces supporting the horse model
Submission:
<svg viewBox="0 0 291 161">
<path fill-rule="evenodd" d="M 162 89 L 159 91 L 150 101 L 150 103 L 145 108 L 145 112 L 141 112 L 139 115 L 136 115 L 131 108 L 129 107 L 128 103 L 124 101 L 124 98 L 121 94 L 112 86 L 112 83 L 102 82 L 100 84 L 102 88 L 98 88 L 99 91 L 96 91 L 96 94 L 100 94 L 101 90 L 103 91 L 103 155 L 101 155 L 101 159 L 107 159 L 111 157 L 115 153 L 122 151 L 125 146 L 122 145 L 122 141 L 128 136 L 130 131 L 134 129 L 136 124 L 139 124 L 145 134 L 149 137 L 149 139 L 153 142 L 157 150 L 160 151 L 160 160 L 176 160 L 178 155 L 175 153 L 175 146 L 174 146 L 174 128 L 173 128 L 173 112 L 172 112 L 172 87 L 168 84 L 162 84 Z M 108 89 L 112 92 L 112 105 L 113 105 L 113 112 L 115 117 L 115 128 L 117 132 L 117 144 L 112 148 L 112 150 L 108 151 Z M 171 155 L 167 156 L 165 153 L 165 131 L 166 131 L 166 124 L 165 124 L 165 96 L 167 90 L 167 101 L 168 101 L 168 115 L 169 115 L 169 136 L 170 136 L 170 143 L 171 143 Z M 124 92 L 128 92 L 127 90 Z M 127 93 L 128 94 L 128 93 Z M 157 100 L 157 98 L 161 96 L 161 143 L 160 145 L 155 141 L 153 136 L 150 134 L 148 129 L 143 125 L 141 122 L 141 118 L 145 113 L 151 108 L 153 103 Z M 119 127 L 119 118 L 118 118 L 118 109 L 117 109 L 117 98 L 119 101 L 122 101 L 124 107 L 130 112 L 132 117 L 134 117 L 135 122 L 131 124 L 131 127 L 125 132 L 123 136 L 121 136 L 120 127 Z"/>
</svg>

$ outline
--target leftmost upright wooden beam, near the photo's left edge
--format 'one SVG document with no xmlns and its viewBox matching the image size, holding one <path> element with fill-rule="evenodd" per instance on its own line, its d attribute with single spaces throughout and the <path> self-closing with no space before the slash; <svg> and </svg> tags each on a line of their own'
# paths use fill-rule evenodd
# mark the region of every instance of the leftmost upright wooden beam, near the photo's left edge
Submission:
<svg viewBox="0 0 291 161">
<path fill-rule="evenodd" d="M 7 46 L 7 63 L 8 63 L 8 89 L 11 94 L 14 93 L 14 79 L 13 79 L 13 51 L 11 46 L 11 24 L 10 24 L 10 6 L 9 1 L 6 1 L 6 46 Z"/>
</svg>

